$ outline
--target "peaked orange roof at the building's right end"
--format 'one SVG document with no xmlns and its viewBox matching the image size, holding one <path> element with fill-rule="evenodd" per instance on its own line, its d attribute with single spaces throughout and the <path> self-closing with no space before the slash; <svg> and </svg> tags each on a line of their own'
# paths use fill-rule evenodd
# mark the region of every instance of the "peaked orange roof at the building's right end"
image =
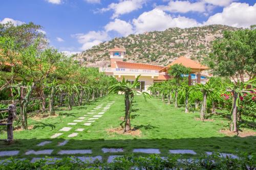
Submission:
<svg viewBox="0 0 256 170">
<path fill-rule="evenodd" d="M 172 66 L 174 64 L 182 64 L 185 67 L 189 67 L 189 68 L 192 68 L 192 69 L 201 69 L 201 70 L 208 69 L 208 67 L 206 67 L 204 65 L 201 65 L 200 63 L 198 63 L 194 60 L 191 60 L 191 59 L 186 58 L 186 57 L 179 57 L 177 60 L 168 64 L 165 68 L 161 69 L 160 71 L 164 71 L 164 70 L 168 69 L 170 66 Z"/>
</svg>

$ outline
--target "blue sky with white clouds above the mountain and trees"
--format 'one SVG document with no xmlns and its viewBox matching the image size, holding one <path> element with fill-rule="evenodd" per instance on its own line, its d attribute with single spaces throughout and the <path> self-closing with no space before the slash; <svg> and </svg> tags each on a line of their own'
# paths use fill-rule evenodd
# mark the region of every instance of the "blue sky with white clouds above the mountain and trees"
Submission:
<svg viewBox="0 0 256 170">
<path fill-rule="evenodd" d="M 0 23 L 42 26 L 60 52 L 85 51 L 114 37 L 211 24 L 256 25 L 255 0 L 2 0 Z"/>
</svg>

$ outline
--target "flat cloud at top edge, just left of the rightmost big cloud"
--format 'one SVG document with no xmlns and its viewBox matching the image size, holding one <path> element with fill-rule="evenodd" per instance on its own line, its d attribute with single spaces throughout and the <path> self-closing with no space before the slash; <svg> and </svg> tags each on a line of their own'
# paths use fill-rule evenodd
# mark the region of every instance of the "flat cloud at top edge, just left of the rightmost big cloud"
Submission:
<svg viewBox="0 0 256 170">
<path fill-rule="evenodd" d="M 196 2 L 190 3 L 189 1 L 170 1 L 167 6 L 158 6 L 157 8 L 163 11 L 169 12 L 179 12 L 179 13 L 187 13 L 187 12 L 205 12 L 205 3 L 204 2 Z"/>
</svg>

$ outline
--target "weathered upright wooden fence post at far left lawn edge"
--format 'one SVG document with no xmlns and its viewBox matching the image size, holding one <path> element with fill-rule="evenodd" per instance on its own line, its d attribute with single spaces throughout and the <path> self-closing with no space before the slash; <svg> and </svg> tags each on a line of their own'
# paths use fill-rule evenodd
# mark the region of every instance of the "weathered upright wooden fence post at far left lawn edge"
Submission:
<svg viewBox="0 0 256 170">
<path fill-rule="evenodd" d="M 13 119 L 16 115 L 16 107 L 9 105 L 8 107 L 8 119 L 7 119 L 7 142 L 11 143 L 13 140 Z"/>
</svg>

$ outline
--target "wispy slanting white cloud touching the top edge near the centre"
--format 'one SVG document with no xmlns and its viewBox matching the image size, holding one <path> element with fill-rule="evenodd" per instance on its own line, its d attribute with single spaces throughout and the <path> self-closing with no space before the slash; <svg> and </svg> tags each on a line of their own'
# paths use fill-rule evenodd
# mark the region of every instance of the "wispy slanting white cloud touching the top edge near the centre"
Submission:
<svg viewBox="0 0 256 170">
<path fill-rule="evenodd" d="M 120 0 L 119 3 L 111 3 L 108 8 L 102 8 L 100 12 L 114 11 L 113 18 L 117 18 L 122 14 L 127 14 L 137 9 L 141 9 L 146 0 Z"/>
</svg>

